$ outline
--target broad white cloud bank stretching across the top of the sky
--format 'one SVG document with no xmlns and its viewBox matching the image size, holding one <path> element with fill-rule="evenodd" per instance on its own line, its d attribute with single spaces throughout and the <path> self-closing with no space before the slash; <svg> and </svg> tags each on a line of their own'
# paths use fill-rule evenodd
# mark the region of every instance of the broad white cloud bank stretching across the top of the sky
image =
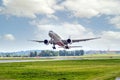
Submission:
<svg viewBox="0 0 120 80">
<path fill-rule="evenodd" d="M 120 15 L 119 0 L 3 0 L 2 13 L 18 17 L 36 18 L 37 14 L 52 15 L 57 10 L 70 11 L 76 17 Z M 48 16 L 49 17 L 49 16 Z"/>
</svg>

